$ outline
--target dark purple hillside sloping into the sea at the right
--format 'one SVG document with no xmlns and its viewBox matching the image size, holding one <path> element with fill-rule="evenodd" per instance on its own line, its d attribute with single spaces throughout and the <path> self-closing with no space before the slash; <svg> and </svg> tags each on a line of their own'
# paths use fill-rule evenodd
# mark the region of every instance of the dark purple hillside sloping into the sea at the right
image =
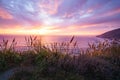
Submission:
<svg viewBox="0 0 120 80">
<path fill-rule="evenodd" d="M 120 39 L 120 28 L 108 31 L 106 33 L 103 33 L 102 35 L 98 35 L 97 37 L 108 39 Z"/>
</svg>

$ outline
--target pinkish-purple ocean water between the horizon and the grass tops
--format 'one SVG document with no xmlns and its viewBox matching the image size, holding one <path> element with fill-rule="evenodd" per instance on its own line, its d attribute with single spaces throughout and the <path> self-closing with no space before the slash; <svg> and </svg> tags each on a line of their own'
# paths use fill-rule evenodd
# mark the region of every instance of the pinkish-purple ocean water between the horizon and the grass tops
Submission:
<svg viewBox="0 0 120 80">
<path fill-rule="evenodd" d="M 25 37 L 29 36 L 23 36 L 23 35 L 0 35 L 0 43 L 5 40 L 9 40 L 9 43 L 12 42 L 12 40 L 15 38 L 17 42 L 17 48 L 18 49 L 26 49 L 26 41 Z M 39 36 L 38 36 L 39 37 Z M 44 44 L 50 44 L 50 43 L 62 43 L 62 42 L 70 42 L 72 36 L 41 36 L 42 42 Z M 102 38 L 98 38 L 95 36 L 75 36 L 73 41 L 77 41 L 77 45 L 79 48 L 87 48 L 88 43 L 97 43 L 99 41 L 102 41 Z"/>
</svg>

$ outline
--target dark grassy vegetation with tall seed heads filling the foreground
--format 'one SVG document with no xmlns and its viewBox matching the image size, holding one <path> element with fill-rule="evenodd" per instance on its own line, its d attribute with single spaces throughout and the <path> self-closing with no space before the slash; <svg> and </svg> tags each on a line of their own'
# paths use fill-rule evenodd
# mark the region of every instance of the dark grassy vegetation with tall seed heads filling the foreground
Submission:
<svg viewBox="0 0 120 80">
<path fill-rule="evenodd" d="M 68 42 L 42 44 L 37 37 L 25 38 L 28 50 L 16 51 L 16 41 L 0 44 L 0 73 L 19 67 L 9 80 L 120 80 L 119 41 L 88 44 L 78 50 L 74 37 Z M 71 48 L 72 46 L 72 48 Z"/>
</svg>

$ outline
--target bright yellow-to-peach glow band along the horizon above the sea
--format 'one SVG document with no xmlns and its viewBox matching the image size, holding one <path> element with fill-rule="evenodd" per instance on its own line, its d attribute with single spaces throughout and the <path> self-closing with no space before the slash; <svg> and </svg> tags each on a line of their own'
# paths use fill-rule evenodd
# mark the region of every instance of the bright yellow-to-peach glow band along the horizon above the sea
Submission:
<svg viewBox="0 0 120 80">
<path fill-rule="evenodd" d="M 51 29 L 49 27 L 34 28 L 34 29 L 0 29 L 0 34 L 4 35 L 82 35 L 82 36 L 95 36 L 101 34 L 101 32 L 89 32 L 89 31 L 72 31 L 69 29 Z"/>
</svg>

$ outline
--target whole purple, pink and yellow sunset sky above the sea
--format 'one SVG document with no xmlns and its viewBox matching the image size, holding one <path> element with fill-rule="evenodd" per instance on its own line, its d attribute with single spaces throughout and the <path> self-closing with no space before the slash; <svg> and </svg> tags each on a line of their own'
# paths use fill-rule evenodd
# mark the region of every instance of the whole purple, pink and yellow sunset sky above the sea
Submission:
<svg viewBox="0 0 120 80">
<path fill-rule="evenodd" d="M 0 34 L 99 35 L 120 28 L 120 0 L 0 0 Z"/>
</svg>

